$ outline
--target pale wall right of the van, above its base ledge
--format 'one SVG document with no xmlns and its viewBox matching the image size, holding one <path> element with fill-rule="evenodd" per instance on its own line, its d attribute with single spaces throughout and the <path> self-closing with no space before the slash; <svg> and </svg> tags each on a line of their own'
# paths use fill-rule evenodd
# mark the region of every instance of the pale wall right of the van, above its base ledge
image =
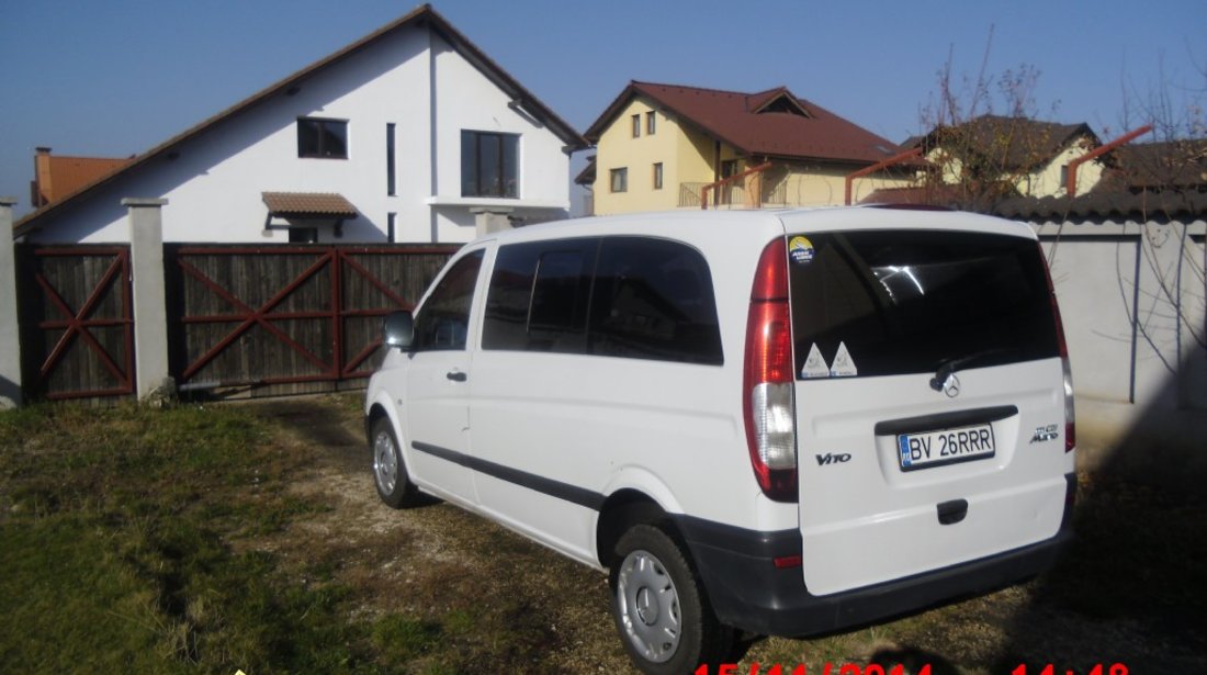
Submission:
<svg viewBox="0 0 1207 675">
<path fill-rule="evenodd" d="M 1203 221 L 1039 227 L 1079 396 L 1207 409 L 1203 232 Z"/>
</svg>

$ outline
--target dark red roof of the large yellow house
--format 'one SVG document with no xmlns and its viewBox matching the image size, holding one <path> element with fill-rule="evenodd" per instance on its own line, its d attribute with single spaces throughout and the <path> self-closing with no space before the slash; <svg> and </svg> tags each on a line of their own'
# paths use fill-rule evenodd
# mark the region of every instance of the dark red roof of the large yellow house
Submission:
<svg viewBox="0 0 1207 675">
<path fill-rule="evenodd" d="M 785 87 L 747 94 L 637 81 L 608 105 L 584 134 L 587 139 L 599 141 L 637 97 L 750 156 L 873 164 L 900 151 L 892 141 Z"/>
</svg>

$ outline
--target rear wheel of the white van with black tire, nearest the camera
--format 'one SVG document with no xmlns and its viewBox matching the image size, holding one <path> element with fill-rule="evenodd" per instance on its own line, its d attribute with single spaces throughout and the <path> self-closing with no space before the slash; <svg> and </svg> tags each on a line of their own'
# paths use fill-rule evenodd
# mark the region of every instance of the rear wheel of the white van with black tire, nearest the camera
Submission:
<svg viewBox="0 0 1207 675">
<path fill-rule="evenodd" d="M 630 528 L 610 575 L 620 642 L 648 675 L 694 673 L 729 656 L 733 630 L 717 621 L 683 549 L 654 525 Z"/>
</svg>

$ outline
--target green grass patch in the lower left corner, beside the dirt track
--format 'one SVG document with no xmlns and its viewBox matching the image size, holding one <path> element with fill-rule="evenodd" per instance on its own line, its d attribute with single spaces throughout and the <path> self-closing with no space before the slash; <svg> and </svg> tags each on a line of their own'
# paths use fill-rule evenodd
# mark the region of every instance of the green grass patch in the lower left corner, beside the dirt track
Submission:
<svg viewBox="0 0 1207 675">
<path fill-rule="evenodd" d="M 369 671 L 349 589 L 256 537 L 327 508 L 245 408 L 0 413 L 0 671 Z"/>
</svg>

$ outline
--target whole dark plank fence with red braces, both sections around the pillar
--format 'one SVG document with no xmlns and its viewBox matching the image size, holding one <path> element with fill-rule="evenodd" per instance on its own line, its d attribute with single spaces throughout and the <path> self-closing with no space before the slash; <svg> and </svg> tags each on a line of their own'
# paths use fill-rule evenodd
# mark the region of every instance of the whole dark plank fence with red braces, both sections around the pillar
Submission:
<svg viewBox="0 0 1207 675">
<path fill-rule="evenodd" d="M 164 246 L 169 371 L 187 396 L 363 386 L 381 316 L 410 309 L 453 245 Z M 133 396 L 130 252 L 17 250 L 30 398 Z"/>
</svg>

